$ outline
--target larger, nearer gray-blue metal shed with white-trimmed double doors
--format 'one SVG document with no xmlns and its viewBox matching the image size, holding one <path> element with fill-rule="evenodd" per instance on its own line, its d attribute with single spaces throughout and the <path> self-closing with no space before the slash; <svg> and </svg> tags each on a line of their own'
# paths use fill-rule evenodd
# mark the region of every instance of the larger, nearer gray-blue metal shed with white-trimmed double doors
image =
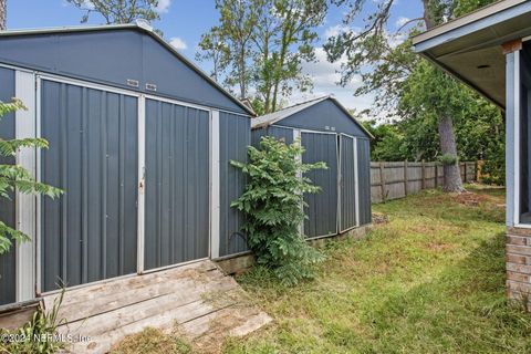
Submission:
<svg viewBox="0 0 531 354">
<path fill-rule="evenodd" d="M 65 190 L 17 195 L 1 220 L 33 242 L 0 257 L 0 304 L 244 250 L 230 208 L 252 112 L 142 24 L 0 33 L 0 136 L 44 137 L 17 163 Z"/>
</svg>

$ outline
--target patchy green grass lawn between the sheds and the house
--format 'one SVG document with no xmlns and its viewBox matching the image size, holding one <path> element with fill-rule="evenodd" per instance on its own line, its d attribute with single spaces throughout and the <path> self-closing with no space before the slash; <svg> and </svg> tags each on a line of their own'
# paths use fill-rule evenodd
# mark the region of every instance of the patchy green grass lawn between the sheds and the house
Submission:
<svg viewBox="0 0 531 354">
<path fill-rule="evenodd" d="M 273 316 L 227 353 L 530 353 L 531 315 L 504 296 L 503 190 L 423 191 L 374 206 L 361 241 L 327 243 L 317 278 L 238 281 Z"/>
</svg>

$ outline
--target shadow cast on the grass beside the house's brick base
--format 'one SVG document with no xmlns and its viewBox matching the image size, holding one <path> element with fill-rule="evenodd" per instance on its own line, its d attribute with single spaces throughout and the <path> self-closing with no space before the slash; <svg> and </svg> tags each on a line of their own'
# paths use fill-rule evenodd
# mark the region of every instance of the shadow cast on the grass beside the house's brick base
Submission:
<svg viewBox="0 0 531 354">
<path fill-rule="evenodd" d="M 503 232 L 437 279 L 383 296 L 363 315 L 374 340 L 361 352 L 531 352 L 531 315 L 504 295 Z"/>
</svg>

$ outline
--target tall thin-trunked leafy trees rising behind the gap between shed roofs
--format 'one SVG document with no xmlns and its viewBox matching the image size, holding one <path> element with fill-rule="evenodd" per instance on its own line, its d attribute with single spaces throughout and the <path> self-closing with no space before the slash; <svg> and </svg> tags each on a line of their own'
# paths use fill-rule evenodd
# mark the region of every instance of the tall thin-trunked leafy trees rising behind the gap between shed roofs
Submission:
<svg viewBox="0 0 531 354">
<path fill-rule="evenodd" d="M 217 0 L 220 21 L 202 34 L 196 58 L 241 98 L 256 92 L 258 111 L 274 112 L 293 90 L 311 88 L 302 63 L 315 59 L 325 0 Z M 252 100 L 251 100 L 252 101 Z"/>
</svg>

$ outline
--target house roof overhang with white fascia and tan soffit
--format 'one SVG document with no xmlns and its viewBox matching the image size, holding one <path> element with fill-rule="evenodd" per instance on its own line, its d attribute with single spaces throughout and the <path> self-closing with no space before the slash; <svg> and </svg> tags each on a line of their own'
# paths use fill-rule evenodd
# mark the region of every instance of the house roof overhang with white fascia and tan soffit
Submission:
<svg viewBox="0 0 531 354">
<path fill-rule="evenodd" d="M 531 39 L 531 1 L 503 0 L 413 39 L 415 52 L 506 108 L 502 44 Z"/>
</svg>

